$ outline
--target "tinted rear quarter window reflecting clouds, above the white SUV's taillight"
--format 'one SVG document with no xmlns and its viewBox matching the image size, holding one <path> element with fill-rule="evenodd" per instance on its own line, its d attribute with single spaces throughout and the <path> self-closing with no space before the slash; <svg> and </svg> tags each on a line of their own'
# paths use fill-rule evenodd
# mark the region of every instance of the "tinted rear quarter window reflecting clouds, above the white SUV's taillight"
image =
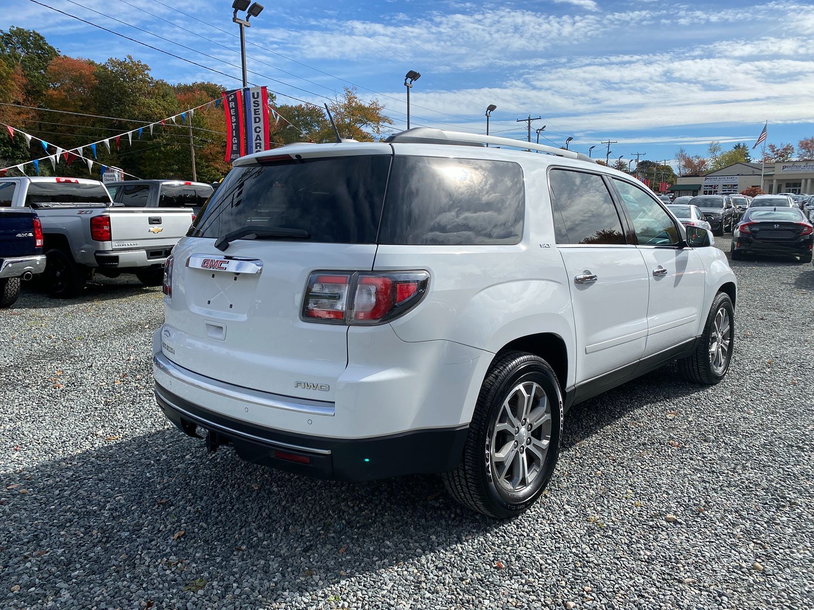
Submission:
<svg viewBox="0 0 814 610">
<path fill-rule="evenodd" d="M 518 163 L 396 155 L 379 243 L 516 244 L 524 211 Z"/>
</svg>

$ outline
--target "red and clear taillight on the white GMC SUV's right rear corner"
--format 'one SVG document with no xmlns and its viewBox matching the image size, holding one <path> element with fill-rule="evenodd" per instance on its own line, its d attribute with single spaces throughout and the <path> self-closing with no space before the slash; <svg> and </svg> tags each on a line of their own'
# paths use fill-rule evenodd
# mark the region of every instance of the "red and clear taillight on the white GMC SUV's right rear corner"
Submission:
<svg viewBox="0 0 814 610">
<path fill-rule="evenodd" d="M 418 305 L 429 281 L 426 271 L 315 272 L 305 286 L 302 318 L 344 325 L 389 322 Z"/>
</svg>

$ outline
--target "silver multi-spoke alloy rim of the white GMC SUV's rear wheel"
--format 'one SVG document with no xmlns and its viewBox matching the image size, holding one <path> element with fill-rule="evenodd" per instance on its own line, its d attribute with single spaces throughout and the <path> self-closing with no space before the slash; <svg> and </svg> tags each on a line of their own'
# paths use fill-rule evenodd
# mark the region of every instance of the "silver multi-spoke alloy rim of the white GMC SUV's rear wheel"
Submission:
<svg viewBox="0 0 814 610">
<path fill-rule="evenodd" d="M 497 414 L 488 447 L 492 477 L 504 490 L 523 491 L 540 475 L 551 426 L 545 390 L 535 381 L 514 386 Z"/>
</svg>

